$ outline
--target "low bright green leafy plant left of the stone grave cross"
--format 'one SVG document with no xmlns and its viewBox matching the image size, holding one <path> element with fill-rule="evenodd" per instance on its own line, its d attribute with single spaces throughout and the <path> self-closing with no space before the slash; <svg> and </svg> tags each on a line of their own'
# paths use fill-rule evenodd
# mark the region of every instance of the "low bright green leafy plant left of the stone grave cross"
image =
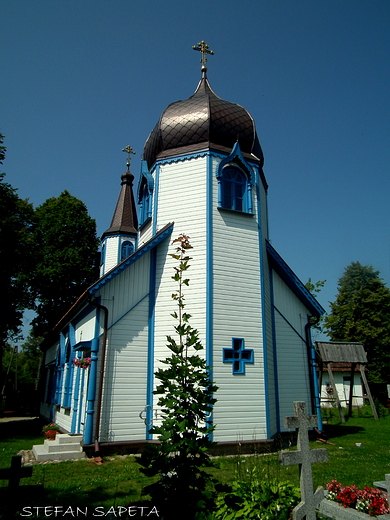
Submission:
<svg viewBox="0 0 390 520">
<path fill-rule="evenodd" d="M 237 478 L 231 491 L 218 497 L 214 519 L 287 520 L 299 501 L 298 488 L 275 478 L 264 479 L 264 475 L 254 469 L 247 478 Z"/>
</svg>

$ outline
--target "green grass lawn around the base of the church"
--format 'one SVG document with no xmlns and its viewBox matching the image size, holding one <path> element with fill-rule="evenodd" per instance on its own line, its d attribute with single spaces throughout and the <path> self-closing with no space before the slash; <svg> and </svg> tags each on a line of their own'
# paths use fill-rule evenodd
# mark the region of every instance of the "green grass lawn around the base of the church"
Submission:
<svg viewBox="0 0 390 520">
<path fill-rule="evenodd" d="M 311 448 L 326 447 L 329 462 L 313 465 L 314 486 L 325 486 L 332 479 L 343 485 L 355 484 L 360 488 L 372 486 L 375 480 L 384 480 L 390 473 L 390 416 L 375 421 L 370 415 L 353 417 L 345 424 L 337 418 L 325 425 L 329 441 L 334 445 L 313 441 Z M 42 444 L 38 423 L 21 429 L 15 423 L 0 424 L 0 467 L 9 467 L 11 457 L 20 450 L 31 449 L 34 444 Z M 362 447 L 356 447 L 361 443 Z M 278 454 L 243 456 L 214 459 L 216 468 L 213 475 L 224 483 L 231 483 L 237 476 L 250 476 L 256 468 L 264 478 L 276 476 L 298 486 L 298 468 L 280 466 Z M 130 502 L 142 500 L 142 489 L 151 482 L 139 471 L 134 457 L 107 457 L 102 466 L 88 460 L 66 461 L 58 464 L 36 464 L 33 476 L 21 481 L 20 502 L 29 506 L 56 504 L 64 506 L 126 506 Z M 0 480 L 0 487 L 7 482 Z M 29 492 L 24 486 L 38 486 Z M 10 496 L 1 489 L 2 503 Z M 36 518 L 36 516 L 35 516 Z"/>
</svg>

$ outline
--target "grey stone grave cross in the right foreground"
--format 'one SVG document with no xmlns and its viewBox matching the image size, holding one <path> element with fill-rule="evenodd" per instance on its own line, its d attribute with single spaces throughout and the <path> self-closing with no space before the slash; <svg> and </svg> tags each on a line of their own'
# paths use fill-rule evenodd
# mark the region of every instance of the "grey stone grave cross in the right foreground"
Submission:
<svg viewBox="0 0 390 520">
<path fill-rule="evenodd" d="M 324 489 L 319 487 L 313 493 L 313 477 L 311 465 L 313 462 L 325 462 L 328 460 L 328 450 L 320 448 L 311 450 L 309 445 L 308 429 L 317 426 L 316 415 L 306 415 L 306 403 L 303 401 L 294 402 L 294 417 L 285 417 L 285 428 L 297 428 L 298 440 L 297 451 L 282 451 L 280 462 L 283 466 L 299 464 L 301 502 L 293 509 L 293 520 L 316 519 L 316 507 L 324 498 Z"/>
</svg>

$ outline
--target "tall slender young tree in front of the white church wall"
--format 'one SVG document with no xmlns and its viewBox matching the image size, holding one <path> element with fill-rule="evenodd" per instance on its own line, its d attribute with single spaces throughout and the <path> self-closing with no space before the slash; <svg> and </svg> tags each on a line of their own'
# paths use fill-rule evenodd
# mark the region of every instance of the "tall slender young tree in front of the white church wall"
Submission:
<svg viewBox="0 0 390 520">
<path fill-rule="evenodd" d="M 199 333 L 185 311 L 183 287 L 189 286 L 185 277 L 190 267 L 192 249 L 189 237 L 180 235 L 172 242 L 175 253 L 170 256 L 178 265 L 172 279 L 178 290 L 172 294 L 177 311 L 176 336 L 167 336 L 170 357 L 155 373 L 159 380 L 155 395 L 159 396 L 162 420 L 150 433 L 158 435 L 159 445 L 148 445 L 139 463 L 146 476 L 158 475 L 156 483 L 145 488 L 162 511 L 163 518 L 208 518 L 214 507 L 214 480 L 204 468 L 213 466 L 206 451 L 213 445 L 209 435 L 214 429 L 210 412 L 216 399 L 217 387 L 212 383 L 208 367 L 199 351 L 203 346 Z"/>
</svg>

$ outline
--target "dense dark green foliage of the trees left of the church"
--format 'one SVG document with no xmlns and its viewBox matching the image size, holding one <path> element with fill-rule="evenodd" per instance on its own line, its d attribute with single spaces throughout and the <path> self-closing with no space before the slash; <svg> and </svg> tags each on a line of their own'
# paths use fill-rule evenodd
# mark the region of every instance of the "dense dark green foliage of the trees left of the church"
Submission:
<svg viewBox="0 0 390 520">
<path fill-rule="evenodd" d="M 0 164 L 5 159 L 3 143 L 0 134 Z M 37 339 L 98 277 L 96 224 L 83 202 L 64 191 L 34 211 L 4 176 L 0 174 L 0 409 L 3 394 L 7 406 L 14 407 L 21 392 L 30 407 L 41 355 Z M 27 342 L 16 353 L 9 343 L 20 339 L 26 309 L 37 311 L 35 339 L 30 338 L 35 343 L 32 348 Z"/>
</svg>

